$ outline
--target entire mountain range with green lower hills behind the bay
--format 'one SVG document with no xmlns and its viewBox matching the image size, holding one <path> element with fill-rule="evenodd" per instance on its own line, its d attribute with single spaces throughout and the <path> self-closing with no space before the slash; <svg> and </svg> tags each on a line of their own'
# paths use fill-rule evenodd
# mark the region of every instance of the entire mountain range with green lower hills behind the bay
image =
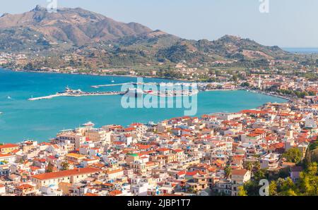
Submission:
<svg viewBox="0 0 318 210">
<path fill-rule="evenodd" d="M 31 57 L 41 53 L 46 58 L 76 54 L 86 61 L 103 63 L 94 64 L 94 68 L 182 61 L 254 62 L 290 56 L 279 47 L 266 47 L 251 39 L 225 35 L 215 41 L 187 40 L 82 8 L 59 8 L 57 13 L 49 13 L 40 6 L 0 17 L 0 51 L 23 52 Z"/>
</svg>

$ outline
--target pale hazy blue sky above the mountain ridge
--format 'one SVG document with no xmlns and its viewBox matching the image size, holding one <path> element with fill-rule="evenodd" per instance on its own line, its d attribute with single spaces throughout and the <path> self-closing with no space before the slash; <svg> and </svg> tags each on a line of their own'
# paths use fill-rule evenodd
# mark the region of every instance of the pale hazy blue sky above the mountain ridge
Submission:
<svg viewBox="0 0 318 210">
<path fill-rule="evenodd" d="M 53 1 L 53 0 L 51 0 Z M 269 1 L 269 13 L 259 11 Z M 47 0 L 0 0 L 0 13 L 23 13 Z M 57 0 L 125 23 L 186 39 L 238 35 L 280 47 L 318 47 L 317 0 Z"/>
</svg>

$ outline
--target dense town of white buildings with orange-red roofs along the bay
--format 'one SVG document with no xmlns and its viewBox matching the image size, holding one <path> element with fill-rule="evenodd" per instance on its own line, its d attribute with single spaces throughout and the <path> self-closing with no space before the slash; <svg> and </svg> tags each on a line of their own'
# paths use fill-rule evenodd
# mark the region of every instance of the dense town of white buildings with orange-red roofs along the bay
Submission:
<svg viewBox="0 0 318 210">
<path fill-rule="evenodd" d="M 254 79 L 260 89 L 273 85 L 259 78 Z M 314 96 L 238 113 L 128 127 L 94 128 L 88 122 L 48 142 L 1 144 L 0 194 L 237 196 L 255 193 L 248 185 L 264 178 L 272 180 L 271 187 L 278 180 L 297 183 L 305 167 L 317 169 L 311 154 L 318 140 L 318 89 L 317 83 L 306 84 Z M 271 192 L 296 193 L 278 188 Z"/>
</svg>

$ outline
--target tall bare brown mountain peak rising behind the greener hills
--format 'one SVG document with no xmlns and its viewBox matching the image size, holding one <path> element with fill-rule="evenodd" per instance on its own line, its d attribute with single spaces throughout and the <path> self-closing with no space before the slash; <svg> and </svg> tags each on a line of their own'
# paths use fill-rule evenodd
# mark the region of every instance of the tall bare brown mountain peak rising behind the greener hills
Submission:
<svg viewBox="0 0 318 210">
<path fill-rule="evenodd" d="M 0 28 L 28 28 L 49 42 L 69 42 L 78 46 L 152 31 L 139 23 L 119 23 L 81 8 L 60 8 L 57 13 L 49 13 L 40 6 L 23 14 L 4 14 L 0 18 Z"/>
</svg>

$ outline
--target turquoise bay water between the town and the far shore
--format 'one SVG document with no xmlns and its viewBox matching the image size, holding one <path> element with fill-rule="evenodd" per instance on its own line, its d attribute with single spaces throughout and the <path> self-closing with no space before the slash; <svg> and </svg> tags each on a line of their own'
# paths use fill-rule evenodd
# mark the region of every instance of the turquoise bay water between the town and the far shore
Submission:
<svg viewBox="0 0 318 210">
<path fill-rule="evenodd" d="M 116 83 L 136 82 L 136 78 L 114 77 Z M 45 141 L 59 130 L 76 128 L 93 121 L 97 127 L 107 124 L 129 125 L 134 122 L 158 122 L 183 116 L 183 109 L 124 109 L 121 96 L 58 97 L 41 101 L 28 101 L 72 89 L 96 91 L 91 85 L 111 84 L 112 77 L 93 75 L 63 75 L 54 73 L 22 73 L 0 69 L 0 142 L 23 140 Z M 165 82 L 144 79 L 145 82 Z M 99 91 L 119 90 L 103 87 Z M 8 99 L 11 97 L 11 99 Z M 232 112 L 253 109 L 283 99 L 245 91 L 201 92 L 198 96 L 197 116 L 218 111 Z"/>
</svg>

